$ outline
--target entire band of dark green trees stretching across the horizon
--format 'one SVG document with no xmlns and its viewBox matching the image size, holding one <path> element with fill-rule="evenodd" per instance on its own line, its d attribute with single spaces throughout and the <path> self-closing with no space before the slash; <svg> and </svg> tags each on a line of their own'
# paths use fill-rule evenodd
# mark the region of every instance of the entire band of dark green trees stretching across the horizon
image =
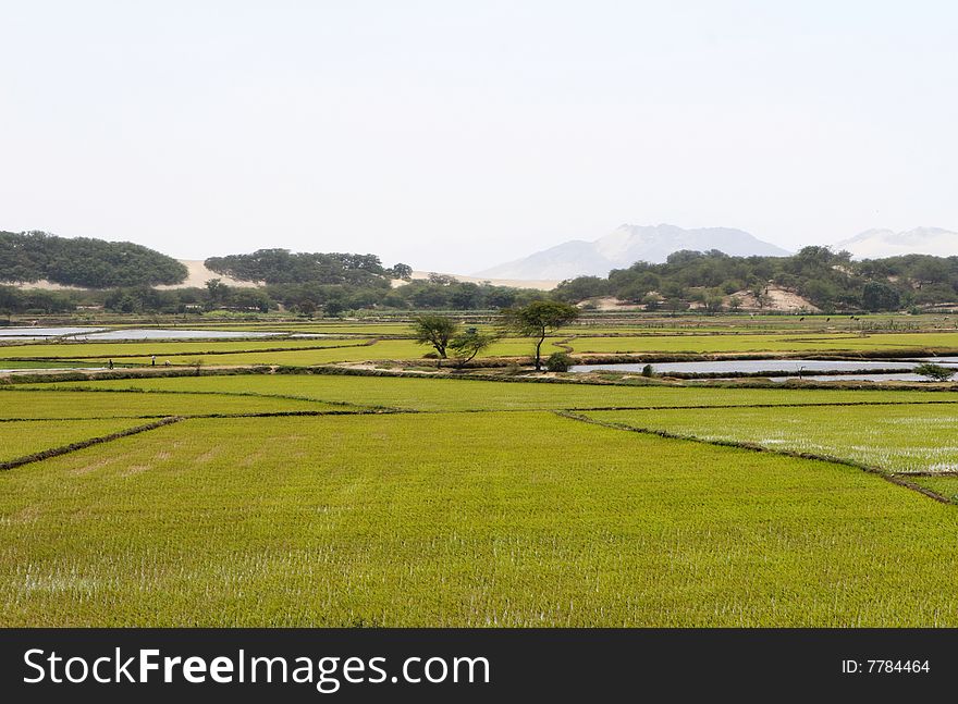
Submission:
<svg viewBox="0 0 958 704">
<path fill-rule="evenodd" d="M 748 297 L 761 308 L 771 285 L 795 292 L 826 312 L 900 310 L 958 301 L 958 257 L 908 255 L 852 261 L 848 252 L 806 247 L 791 257 L 729 257 L 721 251 L 678 251 L 661 264 L 636 262 L 606 277 L 579 276 L 552 294 L 458 282 L 432 274 L 410 281 L 412 269 L 384 267 L 374 255 L 290 252 L 261 249 L 214 257 L 208 268 L 255 288 L 211 280 L 204 288 L 157 291 L 182 281 L 177 261 L 139 245 L 66 239 L 45 233 L 0 233 L 0 283 L 33 282 L 96 291 L 0 292 L 0 312 L 66 312 L 102 306 L 120 312 L 183 312 L 211 309 L 337 316 L 366 309 L 502 310 L 537 298 L 579 304 L 612 296 L 650 310 L 737 310 Z M 396 280 L 405 280 L 394 286 Z"/>
</svg>

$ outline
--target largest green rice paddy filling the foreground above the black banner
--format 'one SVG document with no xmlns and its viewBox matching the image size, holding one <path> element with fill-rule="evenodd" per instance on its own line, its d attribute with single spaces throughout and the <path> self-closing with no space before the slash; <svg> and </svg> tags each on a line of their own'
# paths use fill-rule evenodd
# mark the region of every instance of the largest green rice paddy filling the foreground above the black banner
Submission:
<svg viewBox="0 0 958 704">
<path fill-rule="evenodd" d="M 953 507 L 544 412 L 184 421 L 0 524 L 2 626 L 958 625 Z"/>
</svg>

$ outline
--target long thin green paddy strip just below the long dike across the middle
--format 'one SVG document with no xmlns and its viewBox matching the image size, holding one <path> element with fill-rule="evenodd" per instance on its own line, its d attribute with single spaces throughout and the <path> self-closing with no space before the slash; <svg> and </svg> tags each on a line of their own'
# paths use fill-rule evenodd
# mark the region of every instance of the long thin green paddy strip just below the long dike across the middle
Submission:
<svg viewBox="0 0 958 704">
<path fill-rule="evenodd" d="M 658 406 L 955 402 L 958 395 L 920 391 L 839 391 L 617 386 L 297 374 L 121 379 L 38 384 L 38 388 L 136 388 L 281 394 L 326 402 L 415 410 L 517 410 Z M 2 396 L 0 396 L 2 398 Z"/>
</svg>

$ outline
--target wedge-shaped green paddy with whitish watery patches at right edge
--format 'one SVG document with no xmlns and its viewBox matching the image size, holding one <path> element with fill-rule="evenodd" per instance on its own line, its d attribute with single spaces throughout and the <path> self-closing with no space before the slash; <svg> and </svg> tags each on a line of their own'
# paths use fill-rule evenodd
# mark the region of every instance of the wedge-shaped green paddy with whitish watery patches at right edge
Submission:
<svg viewBox="0 0 958 704">
<path fill-rule="evenodd" d="M 880 467 L 958 471 L 958 406 L 827 406 L 592 412 L 590 418 Z"/>
</svg>

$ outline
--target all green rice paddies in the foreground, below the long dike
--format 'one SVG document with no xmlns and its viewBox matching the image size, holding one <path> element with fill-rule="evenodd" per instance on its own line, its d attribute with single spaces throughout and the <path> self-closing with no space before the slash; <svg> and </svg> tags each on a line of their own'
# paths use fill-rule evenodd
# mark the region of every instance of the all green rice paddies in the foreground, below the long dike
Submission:
<svg viewBox="0 0 958 704">
<path fill-rule="evenodd" d="M 0 472 L 0 626 L 958 626 L 956 403 L 293 374 L 11 385 L 0 461 L 179 420 Z"/>
</svg>

